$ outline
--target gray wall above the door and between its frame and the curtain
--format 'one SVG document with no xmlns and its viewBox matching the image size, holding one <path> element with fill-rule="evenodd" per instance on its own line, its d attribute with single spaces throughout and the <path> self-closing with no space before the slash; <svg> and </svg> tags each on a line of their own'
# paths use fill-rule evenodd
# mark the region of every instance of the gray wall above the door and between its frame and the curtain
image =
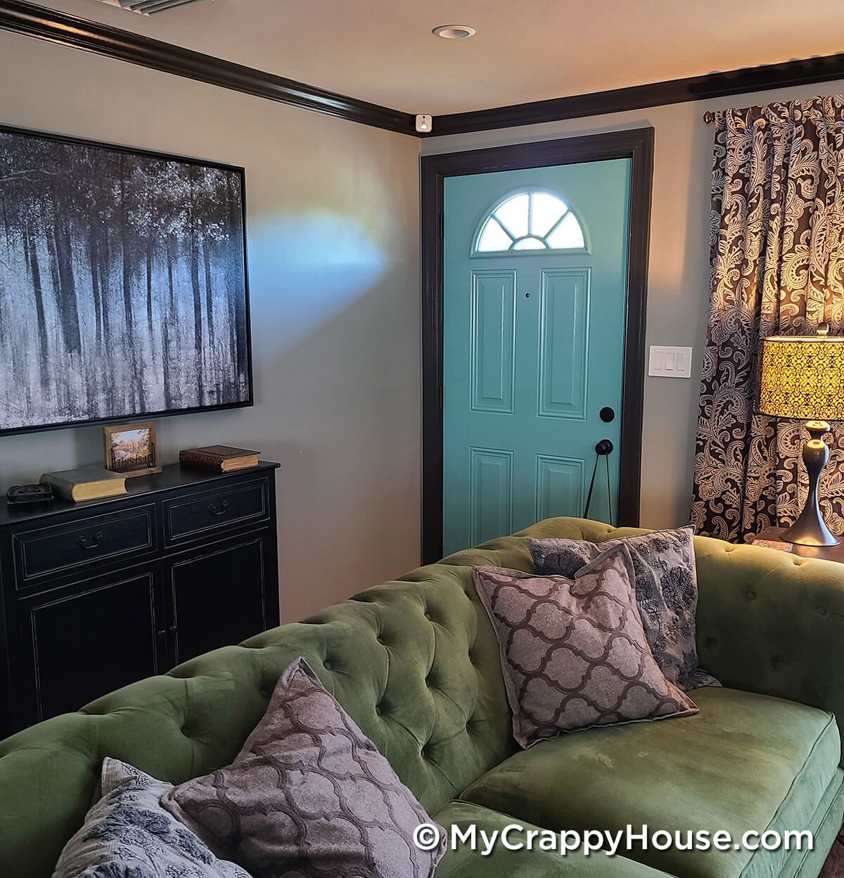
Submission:
<svg viewBox="0 0 844 878">
<path fill-rule="evenodd" d="M 593 119 L 569 119 L 453 137 L 432 136 L 423 141 L 423 154 L 433 154 L 654 126 L 647 345 L 693 347 L 694 362 L 691 379 L 645 380 L 640 507 L 643 527 L 674 527 L 689 522 L 697 401 L 709 314 L 712 126 L 704 124 L 703 113 L 772 100 L 838 94 L 842 88 L 841 82 L 820 83 Z M 434 132 L 436 127 L 434 119 Z"/>
</svg>

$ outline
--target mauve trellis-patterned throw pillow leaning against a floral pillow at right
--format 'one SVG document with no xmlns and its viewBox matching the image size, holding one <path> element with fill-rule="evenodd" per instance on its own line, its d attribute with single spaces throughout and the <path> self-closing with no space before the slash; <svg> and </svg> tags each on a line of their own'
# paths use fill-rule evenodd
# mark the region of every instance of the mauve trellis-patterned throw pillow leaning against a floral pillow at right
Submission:
<svg viewBox="0 0 844 878">
<path fill-rule="evenodd" d="M 513 737 L 529 747 L 561 731 L 697 713 L 647 645 L 626 546 L 576 579 L 476 567 L 496 630 Z"/>
</svg>

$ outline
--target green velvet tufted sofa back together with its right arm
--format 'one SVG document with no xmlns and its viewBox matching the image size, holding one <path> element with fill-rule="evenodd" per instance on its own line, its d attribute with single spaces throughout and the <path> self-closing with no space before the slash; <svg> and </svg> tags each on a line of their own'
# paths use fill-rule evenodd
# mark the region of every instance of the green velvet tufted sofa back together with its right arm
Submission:
<svg viewBox="0 0 844 878">
<path fill-rule="evenodd" d="M 515 750 L 471 568 L 533 570 L 526 536 L 640 532 L 549 519 L 0 742 L 0 875 L 49 878 L 105 756 L 174 783 L 231 761 L 300 655 L 435 812 Z M 701 537 L 695 549 L 704 666 L 727 686 L 844 716 L 844 565 Z"/>
</svg>

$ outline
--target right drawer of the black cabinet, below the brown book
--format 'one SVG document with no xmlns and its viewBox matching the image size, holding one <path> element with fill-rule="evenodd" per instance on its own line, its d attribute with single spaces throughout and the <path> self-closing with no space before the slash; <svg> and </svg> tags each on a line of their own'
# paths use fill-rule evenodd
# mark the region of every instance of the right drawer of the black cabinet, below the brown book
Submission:
<svg viewBox="0 0 844 878">
<path fill-rule="evenodd" d="M 268 480 L 164 501 L 165 543 L 182 543 L 211 531 L 268 521 Z"/>
</svg>

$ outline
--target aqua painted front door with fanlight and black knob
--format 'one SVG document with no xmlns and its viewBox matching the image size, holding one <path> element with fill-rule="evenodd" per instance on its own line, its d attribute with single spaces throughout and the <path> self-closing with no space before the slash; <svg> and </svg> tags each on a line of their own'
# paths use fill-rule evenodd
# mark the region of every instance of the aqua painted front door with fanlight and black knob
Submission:
<svg viewBox="0 0 844 878">
<path fill-rule="evenodd" d="M 447 177 L 443 549 L 618 508 L 630 161 Z M 600 413 L 611 408 L 614 420 Z M 606 414 L 606 413 L 604 413 Z"/>
</svg>

